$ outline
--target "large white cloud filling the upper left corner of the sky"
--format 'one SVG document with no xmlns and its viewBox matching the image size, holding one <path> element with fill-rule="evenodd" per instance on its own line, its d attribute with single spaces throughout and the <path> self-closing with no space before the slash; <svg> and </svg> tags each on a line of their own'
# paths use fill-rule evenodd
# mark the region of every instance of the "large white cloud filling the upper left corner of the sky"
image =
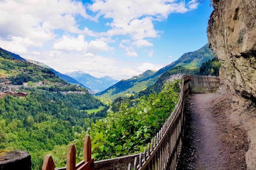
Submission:
<svg viewBox="0 0 256 170">
<path fill-rule="evenodd" d="M 76 16 L 93 19 L 79 1 L 5 0 L 0 1 L 0 9 L 0 40 L 18 47 L 17 52 L 42 47 L 55 38 L 56 29 L 95 36 L 88 28 L 78 28 Z"/>
</svg>

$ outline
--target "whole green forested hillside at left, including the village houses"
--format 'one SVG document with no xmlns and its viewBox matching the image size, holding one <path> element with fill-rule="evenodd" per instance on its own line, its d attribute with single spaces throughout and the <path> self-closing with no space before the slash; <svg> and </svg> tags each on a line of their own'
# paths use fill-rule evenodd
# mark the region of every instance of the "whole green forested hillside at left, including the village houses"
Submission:
<svg viewBox="0 0 256 170">
<path fill-rule="evenodd" d="M 106 112 L 87 112 L 104 106 L 87 89 L 68 84 L 48 68 L 17 60 L 3 49 L 0 72 L 0 151 L 29 151 L 34 170 L 41 169 L 49 151 L 65 147 L 75 139 L 75 132 L 106 116 Z M 6 90 L 9 93 L 3 93 Z M 16 96 L 18 92 L 24 96 Z"/>
</svg>

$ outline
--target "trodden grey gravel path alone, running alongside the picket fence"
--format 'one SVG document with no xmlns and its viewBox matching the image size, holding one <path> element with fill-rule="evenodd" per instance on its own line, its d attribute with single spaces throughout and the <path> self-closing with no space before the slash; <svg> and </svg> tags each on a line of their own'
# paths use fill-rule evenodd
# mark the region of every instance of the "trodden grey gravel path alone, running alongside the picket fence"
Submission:
<svg viewBox="0 0 256 170">
<path fill-rule="evenodd" d="M 242 165 L 231 161 L 236 156 L 232 155 L 233 148 L 229 147 L 230 144 L 223 143 L 224 136 L 233 138 L 234 135 L 228 135 L 228 128 L 223 131 L 227 124 L 222 121 L 224 117 L 216 117 L 216 111 L 212 107 L 215 96 L 214 93 L 192 94 L 187 99 L 187 128 L 177 169 L 246 169 L 242 159 L 237 158 Z"/>
</svg>

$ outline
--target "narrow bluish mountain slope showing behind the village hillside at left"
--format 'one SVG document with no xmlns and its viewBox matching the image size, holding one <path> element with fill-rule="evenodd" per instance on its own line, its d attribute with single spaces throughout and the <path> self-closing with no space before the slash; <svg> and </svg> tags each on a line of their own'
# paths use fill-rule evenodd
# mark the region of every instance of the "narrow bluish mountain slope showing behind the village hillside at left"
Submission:
<svg viewBox="0 0 256 170">
<path fill-rule="evenodd" d="M 86 88 L 86 89 L 89 91 L 90 94 L 95 94 L 95 93 L 96 93 L 96 92 L 94 92 L 93 90 L 91 90 L 90 88 L 84 86 L 82 83 L 76 81 L 74 78 L 69 77 L 69 76 L 67 76 L 67 75 L 65 75 L 65 74 L 62 74 L 62 73 L 60 73 L 60 72 L 57 72 L 56 70 L 54 70 L 53 68 L 51 68 L 51 67 L 45 65 L 44 63 L 41 63 L 41 62 L 38 62 L 38 61 L 33 61 L 33 60 L 31 60 L 31 59 L 26 59 L 26 61 L 31 62 L 31 63 L 34 63 L 35 65 L 39 65 L 39 66 L 41 66 L 41 67 L 46 67 L 46 68 L 52 70 L 53 73 L 55 73 L 57 76 L 59 76 L 60 78 L 62 78 L 62 79 L 65 80 L 65 81 L 67 81 L 68 83 L 80 85 L 80 86 L 82 86 L 83 88 Z"/>
</svg>

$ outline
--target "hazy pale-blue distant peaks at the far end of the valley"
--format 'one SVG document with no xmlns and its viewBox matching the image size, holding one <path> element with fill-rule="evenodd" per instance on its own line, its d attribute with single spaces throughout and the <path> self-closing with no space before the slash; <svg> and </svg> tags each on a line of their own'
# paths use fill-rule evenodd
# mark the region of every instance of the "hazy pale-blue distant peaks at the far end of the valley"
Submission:
<svg viewBox="0 0 256 170">
<path fill-rule="evenodd" d="M 114 80 L 113 78 L 111 78 L 109 76 L 96 78 L 96 77 L 91 76 L 88 73 L 84 73 L 80 70 L 76 71 L 76 72 L 65 73 L 65 74 L 67 74 L 68 76 L 81 82 L 83 85 L 89 87 L 90 89 L 94 90 L 95 92 L 100 92 L 102 90 L 105 90 L 109 86 L 112 86 L 113 84 L 118 82 L 118 80 Z"/>
</svg>

